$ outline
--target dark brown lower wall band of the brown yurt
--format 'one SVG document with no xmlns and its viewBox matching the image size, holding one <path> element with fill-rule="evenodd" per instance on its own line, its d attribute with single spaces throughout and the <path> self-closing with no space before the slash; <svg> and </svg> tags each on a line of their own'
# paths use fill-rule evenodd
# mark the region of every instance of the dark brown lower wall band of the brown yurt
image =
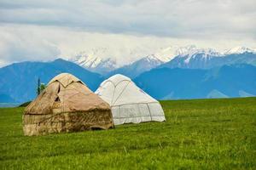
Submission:
<svg viewBox="0 0 256 170">
<path fill-rule="evenodd" d="M 106 111 L 105 111 L 106 112 Z M 111 114 L 108 111 L 109 114 Z M 25 135 L 44 135 L 48 133 L 79 132 L 113 127 L 112 119 L 102 111 L 67 112 L 55 115 L 24 115 Z M 110 116 L 111 117 L 111 116 Z"/>
</svg>

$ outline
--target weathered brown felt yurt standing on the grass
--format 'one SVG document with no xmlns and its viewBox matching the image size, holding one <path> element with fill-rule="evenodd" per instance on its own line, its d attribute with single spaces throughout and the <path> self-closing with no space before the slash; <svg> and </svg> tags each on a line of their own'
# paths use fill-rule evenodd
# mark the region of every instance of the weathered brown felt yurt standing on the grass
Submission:
<svg viewBox="0 0 256 170">
<path fill-rule="evenodd" d="M 113 118 L 108 103 L 68 73 L 54 77 L 23 115 L 23 131 L 29 136 L 110 127 Z"/>
</svg>

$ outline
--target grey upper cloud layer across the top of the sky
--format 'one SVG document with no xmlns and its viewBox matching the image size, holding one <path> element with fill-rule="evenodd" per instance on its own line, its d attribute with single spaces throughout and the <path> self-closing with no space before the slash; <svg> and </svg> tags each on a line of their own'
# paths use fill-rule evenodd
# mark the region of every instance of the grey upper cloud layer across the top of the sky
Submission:
<svg viewBox="0 0 256 170">
<path fill-rule="evenodd" d="M 3 0 L 2 0 L 3 1 Z M 254 0 L 3 1 L 2 23 L 164 37 L 255 38 Z M 237 36 L 238 37 L 238 36 Z"/>
</svg>

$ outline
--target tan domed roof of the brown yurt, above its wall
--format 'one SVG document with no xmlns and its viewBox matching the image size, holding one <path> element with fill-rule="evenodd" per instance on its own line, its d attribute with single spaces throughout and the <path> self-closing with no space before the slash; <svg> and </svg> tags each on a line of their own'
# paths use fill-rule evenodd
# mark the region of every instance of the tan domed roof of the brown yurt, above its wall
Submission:
<svg viewBox="0 0 256 170">
<path fill-rule="evenodd" d="M 27 114 L 49 114 L 60 101 L 62 112 L 108 110 L 109 105 L 68 73 L 54 77 L 44 91 L 26 107 Z"/>
</svg>

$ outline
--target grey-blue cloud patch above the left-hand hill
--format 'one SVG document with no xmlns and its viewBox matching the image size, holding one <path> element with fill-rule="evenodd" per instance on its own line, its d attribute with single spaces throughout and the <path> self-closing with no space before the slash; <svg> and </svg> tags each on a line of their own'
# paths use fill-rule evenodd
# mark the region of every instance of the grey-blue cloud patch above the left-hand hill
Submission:
<svg viewBox="0 0 256 170">
<path fill-rule="evenodd" d="M 2 63 L 24 60 L 49 60 L 61 52 L 49 39 L 36 30 L 0 27 L 0 57 Z"/>
</svg>

